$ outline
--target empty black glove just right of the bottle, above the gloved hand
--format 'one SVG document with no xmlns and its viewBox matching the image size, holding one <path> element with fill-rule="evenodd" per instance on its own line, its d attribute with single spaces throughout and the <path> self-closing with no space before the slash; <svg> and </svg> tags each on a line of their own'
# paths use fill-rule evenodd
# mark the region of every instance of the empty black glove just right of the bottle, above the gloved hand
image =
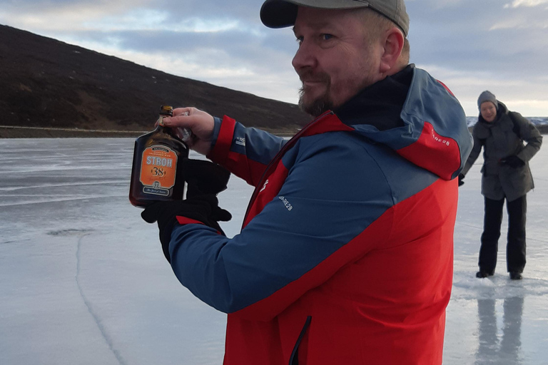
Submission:
<svg viewBox="0 0 548 365">
<path fill-rule="evenodd" d="M 186 197 L 203 194 L 217 195 L 226 189 L 230 171 L 206 160 L 183 160 L 185 181 L 188 184 Z"/>
</svg>

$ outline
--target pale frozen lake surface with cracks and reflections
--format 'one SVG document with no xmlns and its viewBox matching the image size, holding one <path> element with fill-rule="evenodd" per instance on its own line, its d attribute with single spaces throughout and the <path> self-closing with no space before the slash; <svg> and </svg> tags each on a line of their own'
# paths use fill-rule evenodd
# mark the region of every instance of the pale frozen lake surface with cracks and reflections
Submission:
<svg viewBox="0 0 548 365">
<path fill-rule="evenodd" d="M 133 139 L 0 139 L 0 364 L 222 364 L 225 314 L 178 283 L 128 202 Z M 193 155 L 193 157 L 197 157 Z M 524 279 L 476 279 L 478 160 L 460 187 L 445 365 L 548 364 L 548 148 L 531 162 Z M 220 206 L 238 234 L 252 192 Z M 260 364 L 258 364 L 260 365 Z"/>
</svg>

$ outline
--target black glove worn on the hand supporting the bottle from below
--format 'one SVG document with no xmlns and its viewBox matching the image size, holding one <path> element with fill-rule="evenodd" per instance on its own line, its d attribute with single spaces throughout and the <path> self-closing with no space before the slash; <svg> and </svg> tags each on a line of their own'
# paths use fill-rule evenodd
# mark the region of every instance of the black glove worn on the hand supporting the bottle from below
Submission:
<svg viewBox="0 0 548 365">
<path fill-rule="evenodd" d="M 171 231 L 177 222 L 177 216 L 198 220 L 204 225 L 214 228 L 222 235 L 225 233 L 221 230 L 218 222 L 228 222 L 232 218 L 230 212 L 218 206 L 217 197 L 213 194 L 198 195 L 186 200 L 172 202 L 159 201 L 148 205 L 141 212 L 141 217 L 148 223 L 158 222 L 163 255 L 166 256 L 168 262 L 171 262 L 171 257 L 169 257 Z"/>
</svg>

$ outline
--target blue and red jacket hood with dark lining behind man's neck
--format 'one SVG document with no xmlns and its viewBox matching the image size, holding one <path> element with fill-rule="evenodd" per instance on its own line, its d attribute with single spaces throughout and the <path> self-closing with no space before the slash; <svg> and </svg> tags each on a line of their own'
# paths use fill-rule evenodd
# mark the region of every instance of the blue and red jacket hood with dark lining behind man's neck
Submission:
<svg viewBox="0 0 548 365">
<path fill-rule="evenodd" d="M 445 180 L 459 175 L 472 150 L 457 98 L 413 65 L 365 88 L 335 114 L 368 140 Z"/>
</svg>

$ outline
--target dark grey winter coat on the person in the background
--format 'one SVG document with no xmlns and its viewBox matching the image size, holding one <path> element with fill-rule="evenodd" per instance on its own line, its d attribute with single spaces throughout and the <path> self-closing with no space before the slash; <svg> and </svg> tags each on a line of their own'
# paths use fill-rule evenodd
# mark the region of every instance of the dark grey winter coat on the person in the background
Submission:
<svg viewBox="0 0 548 365">
<path fill-rule="evenodd" d="M 489 123 L 480 115 L 474 126 L 474 147 L 462 174 L 466 175 L 470 170 L 483 147 L 482 194 L 493 200 L 506 197 L 511 202 L 534 187 L 529 160 L 540 149 L 542 135 L 521 114 L 509 111 L 500 101 L 498 103 L 497 120 Z M 523 144 L 524 140 L 527 145 Z M 499 160 L 509 155 L 517 155 L 525 165 L 519 168 L 501 165 Z"/>
</svg>

